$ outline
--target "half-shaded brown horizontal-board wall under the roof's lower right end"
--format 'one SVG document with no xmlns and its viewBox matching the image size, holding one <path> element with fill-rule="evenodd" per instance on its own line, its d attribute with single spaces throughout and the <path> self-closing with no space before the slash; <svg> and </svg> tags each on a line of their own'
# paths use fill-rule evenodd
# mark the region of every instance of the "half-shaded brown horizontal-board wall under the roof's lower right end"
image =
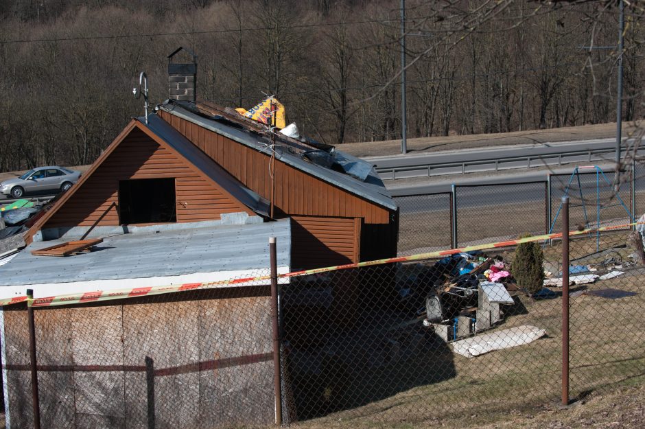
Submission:
<svg viewBox="0 0 645 429">
<path fill-rule="evenodd" d="M 360 260 L 360 218 L 292 216 L 292 268 L 309 269 Z"/>
</svg>

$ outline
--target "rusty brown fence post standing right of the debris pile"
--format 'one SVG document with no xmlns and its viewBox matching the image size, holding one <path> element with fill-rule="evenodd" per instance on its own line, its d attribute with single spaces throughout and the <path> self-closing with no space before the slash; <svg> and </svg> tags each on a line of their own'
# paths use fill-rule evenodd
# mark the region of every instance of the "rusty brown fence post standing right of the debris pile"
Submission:
<svg viewBox="0 0 645 429">
<path fill-rule="evenodd" d="M 562 404 L 569 404 L 569 197 L 562 197 Z"/>
</svg>

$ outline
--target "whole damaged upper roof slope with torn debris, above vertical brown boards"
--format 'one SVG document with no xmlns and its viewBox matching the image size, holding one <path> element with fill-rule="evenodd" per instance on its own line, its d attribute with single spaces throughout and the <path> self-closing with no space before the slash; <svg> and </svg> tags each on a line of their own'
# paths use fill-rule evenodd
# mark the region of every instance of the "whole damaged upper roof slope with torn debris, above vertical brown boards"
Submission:
<svg viewBox="0 0 645 429">
<path fill-rule="evenodd" d="M 231 109 L 218 108 L 213 104 L 194 104 L 175 100 L 166 100 L 158 108 L 242 143 L 244 146 L 267 155 L 272 154 L 272 149 L 269 147 L 271 142 L 266 135 L 266 129 L 261 124 L 242 117 L 235 111 L 229 111 Z M 391 210 L 397 209 L 396 203 L 392 200 L 392 196 L 390 196 L 373 165 L 355 156 L 336 150 L 333 146 L 314 141 L 298 141 L 277 134 L 275 136 L 281 146 L 287 148 L 286 150 L 276 151 L 277 159 L 283 161 L 283 163 L 377 205 Z M 329 148 L 333 148 L 333 150 L 329 150 Z M 307 152 L 323 151 L 333 156 L 333 163 L 336 163 L 339 170 L 343 170 L 343 172 L 312 162 L 312 156 L 306 155 Z M 364 180 L 360 180 L 361 178 L 364 178 Z"/>
</svg>

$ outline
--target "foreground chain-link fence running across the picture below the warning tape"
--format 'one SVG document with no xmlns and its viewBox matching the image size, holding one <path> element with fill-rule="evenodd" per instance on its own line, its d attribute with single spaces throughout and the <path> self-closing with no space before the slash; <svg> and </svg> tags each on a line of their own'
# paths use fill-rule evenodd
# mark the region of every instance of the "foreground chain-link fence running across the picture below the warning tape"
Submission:
<svg viewBox="0 0 645 429">
<path fill-rule="evenodd" d="M 571 399 L 640 380 L 642 237 L 626 225 L 574 233 L 568 256 L 562 244 L 530 237 L 276 275 L 275 297 L 267 270 L 32 306 L 41 427 L 414 426 L 535 410 L 561 399 L 564 332 Z M 8 428 L 34 427 L 21 305 L 2 312 Z"/>
</svg>

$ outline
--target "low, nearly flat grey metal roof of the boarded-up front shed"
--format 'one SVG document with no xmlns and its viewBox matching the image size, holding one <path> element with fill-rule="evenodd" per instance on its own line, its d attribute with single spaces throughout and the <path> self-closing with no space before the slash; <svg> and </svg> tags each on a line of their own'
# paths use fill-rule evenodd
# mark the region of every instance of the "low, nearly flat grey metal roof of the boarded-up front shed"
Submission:
<svg viewBox="0 0 645 429">
<path fill-rule="evenodd" d="M 212 276 L 206 275 L 208 273 L 232 277 L 243 273 L 248 275 L 270 266 L 269 237 L 277 238 L 280 270 L 288 272 L 290 268 L 289 220 L 218 227 L 204 227 L 196 222 L 194 226 L 178 231 L 161 229 L 104 237 L 95 251 L 69 257 L 34 256 L 31 253 L 65 240 L 33 242 L 10 262 L 0 266 L 0 297 L 24 294 L 24 286 L 30 285 L 36 285 L 34 294 L 37 297 L 47 297 L 91 292 L 97 290 L 92 286 L 96 281 L 108 281 L 117 285 L 113 288 L 118 288 L 125 287 L 121 286 L 125 284 L 124 279 L 137 279 L 135 286 L 139 287 L 213 281 Z M 231 277 L 224 277 L 228 278 Z M 161 285 L 154 284 L 155 281 L 161 281 Z"/>
</svg>

